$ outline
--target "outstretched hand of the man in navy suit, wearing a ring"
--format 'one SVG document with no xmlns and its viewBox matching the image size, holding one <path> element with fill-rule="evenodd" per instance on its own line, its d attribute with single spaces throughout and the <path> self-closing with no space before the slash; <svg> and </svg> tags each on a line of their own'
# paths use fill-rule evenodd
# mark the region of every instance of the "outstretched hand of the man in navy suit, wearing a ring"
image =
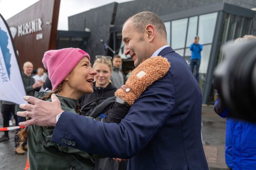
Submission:
<svg viewBox="0 0 256 170">
<path fill-rule="evenodd" d="M 63 112 L 60 101 L 55 94 L 52 94 L 51 96 L 52 102 L 43 101 L 32 96 L 24 96 L 23 99 L 32 104 L 21 104 L 20 108 L 27 111 L 17 112 L 17 115 L 22 117 L 28 115 L 31 117 L 31 120 L 20 122 L 19 126 L 55 126 L 56 116 Z"/>
</svg>

